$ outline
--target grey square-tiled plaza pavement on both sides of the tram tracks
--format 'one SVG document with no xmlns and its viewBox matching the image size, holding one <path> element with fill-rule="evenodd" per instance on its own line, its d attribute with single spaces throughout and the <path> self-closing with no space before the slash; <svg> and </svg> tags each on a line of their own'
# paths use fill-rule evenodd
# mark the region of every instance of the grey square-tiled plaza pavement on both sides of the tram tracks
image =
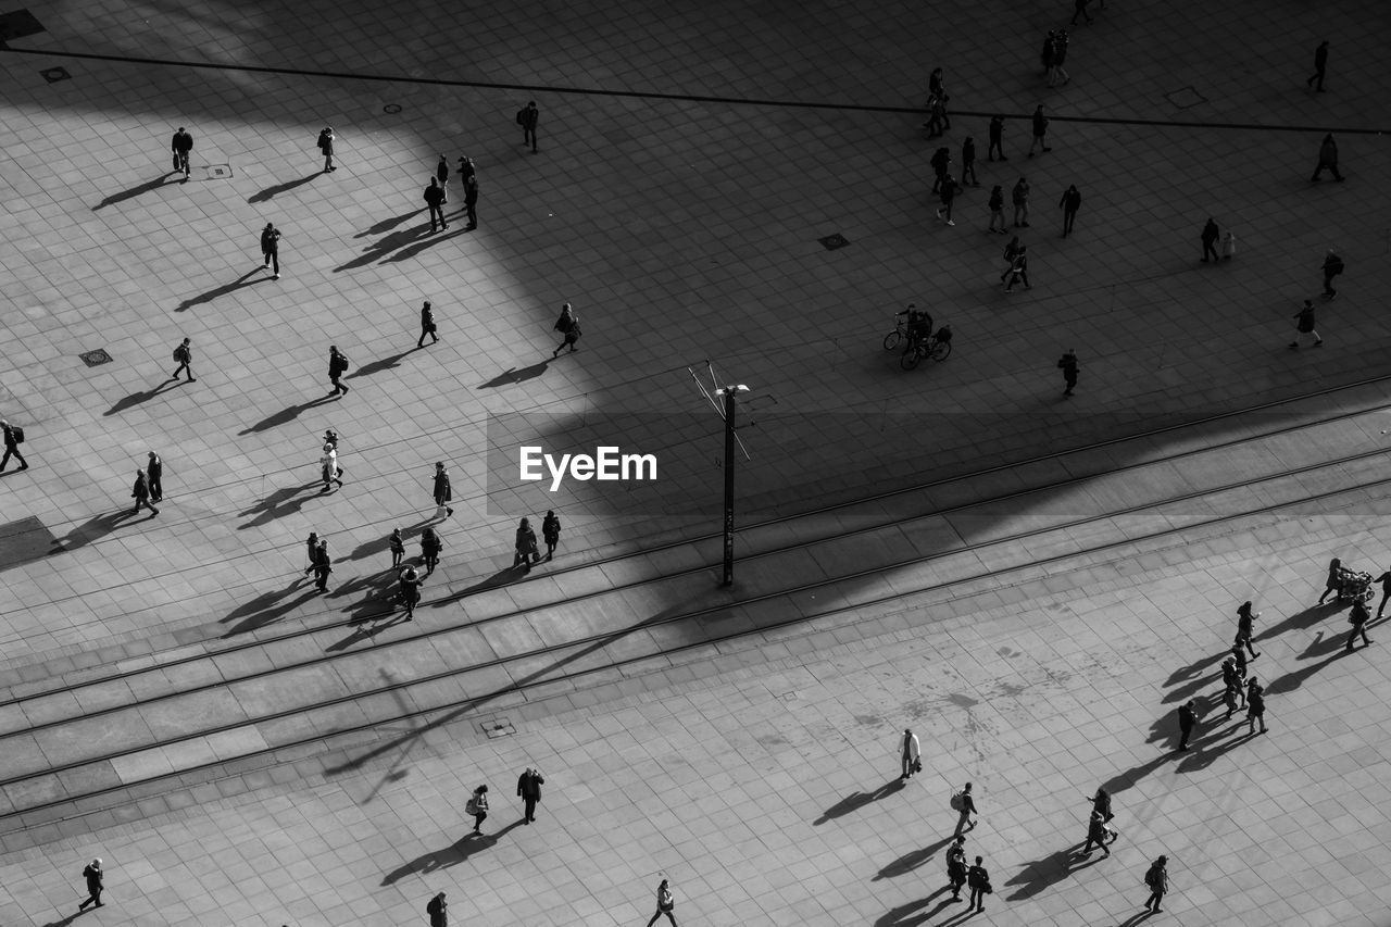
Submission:
<svg viewBox="0 0 1391 927">
<path fill-rule="evenodd" d="M 466 593 L 548 507 L 565 564 L 708 534 L 723 448 L 691 377 L 712 386 L 708 363 L 753 387 L 746 519 L 1381 376 L 1384 4 L 1093 3 L 1071 82 L 1049 89 L 1039 45 L 1071 6 L 0 8 L 0 416 L 25 427 L 31 464 L 0 476 L 0 686 L 371 614 L 385 536 L 401 526 L 415 554 L 434 512 L 435 461 L 456 511 L 427 593 L 463 601 L 427 628 L 476 618 Z M 1320 39 L 1328 92 L 1313 93 Z M 942 142 L 912 111 L 938 65 L 956 111 Z M 529 99 L 537 153 L 513 121 Z M 1027 159 L 1038 103 L 1053 152 Z M 958 157 L 970 134 L 983 159 L 992 113 L 1008 163 L 981 160 L 957 225 L 933 221 L 928 157 Z M 179 125 L 188 182 L 170 173 Z M 1326 132 L 1344 184 L 1309 182 Z M 453 184 L 449 230 L 430 234 L 441 153 L 477 164 L 474 231 Z M 1006 296 L 985 198 L 1025 174 L 1034 287 Z M 1068 184 L 1084 202 L 1063 239 Z M 1209 216 L 1237 232 L 1235 260 L 1198 262 Z M 267 221 L 280 280 L 260 264 Z M 1291 352 L 1330 248 L 1348 271 L 1319 301 L 1326 344 Z M 416 349 L 424 299 L 442 341 Z M 552 359 L 566 301 L 584 335 Z M 904 372 L 881 341 L 912 301 L 951 323 L 954 354 Z M 198 381 L 170 383 L 184 337 Z M 353 362 L 335 399 L 331 344 Z M 1082 380 L 1064 399 L 1068 348 Z M 346 484 L 321 494 L 330 427 Z M 668 482 L 548 497 L 498 454 L 605 429 L 659 447 Z M 122 518 L 152 450 L 161 512 Z M 964 905 L 939 889 L 967 779 L 968 853 L 996 887 L 975 921 L 1129 927 L 1167 853 L 1175 923 L 1385 927 L 1391 679 L 1380 642 L 1344 657 L 1344 614 L 1310 608 L 1328 557 L 1391 562 L 1385 511 L 1348 493 L 932 596 L 906 573 L 892 605 L 538 695 L 505 736 L 479 717 L 399 725 L 357 745 L 385 749 L 334 743 L 3 834 L 0 927 L 74 923 L 93 856 L 108 903 L 82 923 L 426 923 L 447 891 L 455 923 L 634 924 L 666 877 L 683 924 L 954 924 Z M 296 586 L 310 530 L 334 557 L 323 599 Z M 1216 704 L 1244 599 L 1264 611 L 1271 734 L 1214 724 L 1177 759 L 1174 708 Z M 900 788 L 904 727 L 926 768 Z M 517 827 L 529 763 L 547 784 Z M 469 838 L 480 782 L 494 811 Z M 1121 839 L 1068 864 L 1099 784 Z"/>
</svg>

